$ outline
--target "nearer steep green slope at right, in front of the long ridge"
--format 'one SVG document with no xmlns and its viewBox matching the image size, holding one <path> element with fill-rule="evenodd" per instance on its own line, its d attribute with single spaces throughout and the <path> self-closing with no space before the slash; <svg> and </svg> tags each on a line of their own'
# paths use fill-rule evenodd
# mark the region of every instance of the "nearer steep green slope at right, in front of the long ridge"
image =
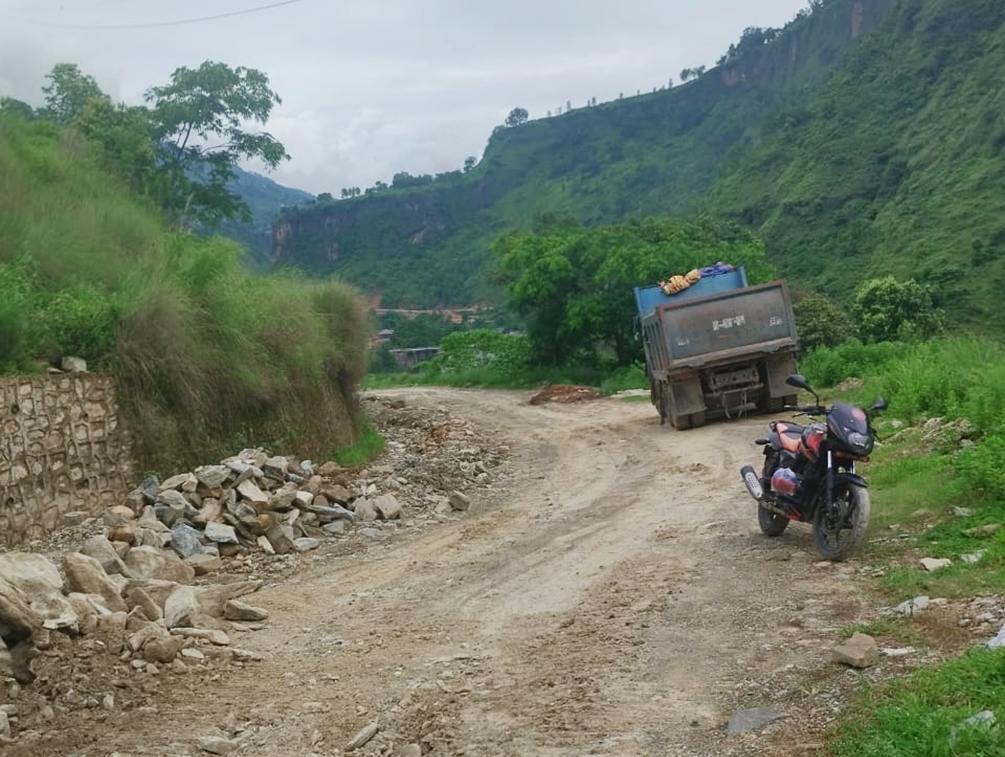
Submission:
<svg viewBox="0 0 1005 757">
<path fill-rule="evenodd" d="M 1005 285 L 1005 4 L 901 0 L 806 107 L 714 188 L 781 270 L 840 296 L 863 275 L 935 286 L 967 321 Z"/>
</svg>

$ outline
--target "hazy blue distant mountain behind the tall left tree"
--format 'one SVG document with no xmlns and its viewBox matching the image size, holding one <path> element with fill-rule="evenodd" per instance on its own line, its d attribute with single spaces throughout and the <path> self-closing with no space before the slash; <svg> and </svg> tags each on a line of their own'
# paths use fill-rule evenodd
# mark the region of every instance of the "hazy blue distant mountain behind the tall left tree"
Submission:
<svg viewBox="0 0 1005 757">
<path fill-rule="evenodd" d="M 235 168 L 236 179 L 230 189 L 240 195 L 251 209 L 251 221 L 225 221 L 215 233 L 236 239 L 247 247 L 250 262 L 259 268 L 269 267 L 272 248 L 272 221 L 283 208 L 313 204 L 315 196 L 299 189 L 276 184 L 267 176 Z"/>
</svg>

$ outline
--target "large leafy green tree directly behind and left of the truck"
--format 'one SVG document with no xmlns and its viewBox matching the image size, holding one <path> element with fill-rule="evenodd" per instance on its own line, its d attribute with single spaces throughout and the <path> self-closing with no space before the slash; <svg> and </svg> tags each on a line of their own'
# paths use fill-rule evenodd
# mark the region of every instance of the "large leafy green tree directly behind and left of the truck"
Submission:
<svg viewBox="0 0 1005 757">
<path fill-rule="evenodd" d="M 641 359 L 632 324 L 632 287 L 716 260 L 746 265 L 751 280 L 768 280 L 764 245 L 731 224 L 701 220 L 632 220 L 585 229 L 564 216 L 541 216 L 534 232 L 509 234 L 493 245 L 495 281 L 525 316 L 536 358 L 562 365 L 618 365 Z"/>
</svg>

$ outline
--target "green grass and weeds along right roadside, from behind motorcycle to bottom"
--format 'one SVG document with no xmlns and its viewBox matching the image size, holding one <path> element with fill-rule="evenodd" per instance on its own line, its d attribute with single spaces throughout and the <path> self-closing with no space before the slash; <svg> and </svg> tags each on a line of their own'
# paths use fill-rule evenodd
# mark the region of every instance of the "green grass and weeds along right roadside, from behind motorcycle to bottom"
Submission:
<svg viewBox="0 0 1005 757">
<path fill-rule="evenodd" d="M 801 369 L 854 402 L 886 397 L 881 442 L 868 476 L 877 588 L 891 605 L 925 595 L 965 599 L 1005 590 L 1005 348 L 984 338 L 850 341 L 806 355 Z M 858 379 L 850 381 L 849 379 Z M 952 565 L 924 570 L 920 557 Z M 1002 755 L 1005 652 L 986 638 L 927 618 L 881 618 L 866 627 L 889 645 L 945 648 L 934 668 L 863 686 L 831 733 L 834 757 Z M 952 649 L 970 647 L 962 656 Z M 990 711 L 996 727 L 961 726 Z"/>
</svg>

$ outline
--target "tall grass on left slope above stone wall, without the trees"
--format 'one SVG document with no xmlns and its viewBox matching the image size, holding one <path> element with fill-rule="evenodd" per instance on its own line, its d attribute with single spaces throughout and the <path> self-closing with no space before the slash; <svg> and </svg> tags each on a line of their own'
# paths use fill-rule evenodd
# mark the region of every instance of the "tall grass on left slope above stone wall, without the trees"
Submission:
<svg viewBox="0 0 1005 757">
<path fill-rule="evenodd" d="M 0 117 L 0 370 L 72 354 L 114 372 L 145 467 L 357 439 L 363 302 L 335 281 L 252 275 L 240 256 L 167 231 L 72 133 Z"/>
</svg>

